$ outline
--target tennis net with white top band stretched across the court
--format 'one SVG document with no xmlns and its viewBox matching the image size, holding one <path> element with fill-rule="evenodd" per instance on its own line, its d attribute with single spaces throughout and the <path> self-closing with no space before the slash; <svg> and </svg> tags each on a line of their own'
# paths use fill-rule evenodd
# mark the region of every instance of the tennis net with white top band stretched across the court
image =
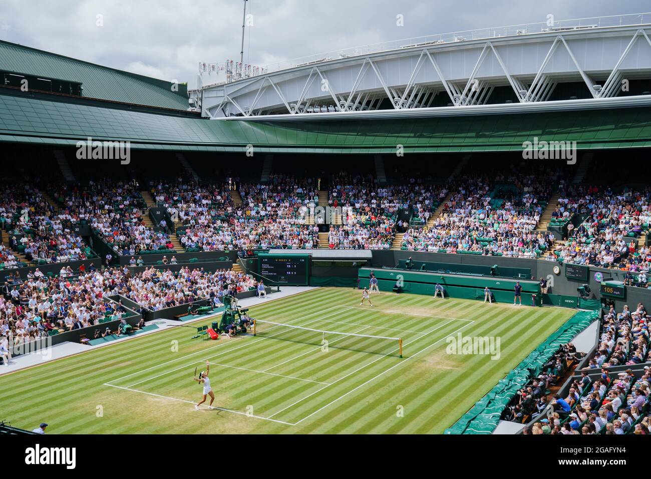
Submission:
<svg viewBox="0 0 651 479">
<path fill-rule="evenodd" d="M 335 348 L 402 358 L 402 338 L 326 331 L 304 326 L 273 323 L 273 321 L 261 321 L 260 319 L 253 320 L 253 336 L 311 344 L 320 346 L 324 351 Z"/>
</svg>

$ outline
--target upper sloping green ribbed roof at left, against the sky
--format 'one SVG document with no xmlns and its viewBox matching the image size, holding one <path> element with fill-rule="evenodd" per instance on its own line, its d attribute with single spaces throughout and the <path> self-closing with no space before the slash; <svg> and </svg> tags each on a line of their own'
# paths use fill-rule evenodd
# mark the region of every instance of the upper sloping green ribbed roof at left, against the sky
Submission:
<svg viewBox="0 0 651 479">
<path fill-rule="evenodd" d="M 0 70 L 82 83 L 85 98 L 187 110 L 187 85 L 95 65 L 0 40 Z"/>
</svg>

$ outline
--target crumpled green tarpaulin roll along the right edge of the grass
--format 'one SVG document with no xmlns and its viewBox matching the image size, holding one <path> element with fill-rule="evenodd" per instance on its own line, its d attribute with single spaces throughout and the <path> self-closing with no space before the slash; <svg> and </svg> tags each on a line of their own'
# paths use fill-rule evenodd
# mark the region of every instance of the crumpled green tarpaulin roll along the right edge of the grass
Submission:
<svg viewBox="0 0 651 479">
<path fill-rule="evenodd" d="M 577 312 L 524 358 L 504 379 L 501 379 L 486 396 L 479 399 L 470 411 L 461 416 L 450 428 L 445 429 L 444 434 L 492 433 L 497 428 L 502 412 L 519 388 L 540 374 L 544 364 L 551 359 L 560 345 L 568 343 L 598 317 L 598 311 Z"/>
</svg>

